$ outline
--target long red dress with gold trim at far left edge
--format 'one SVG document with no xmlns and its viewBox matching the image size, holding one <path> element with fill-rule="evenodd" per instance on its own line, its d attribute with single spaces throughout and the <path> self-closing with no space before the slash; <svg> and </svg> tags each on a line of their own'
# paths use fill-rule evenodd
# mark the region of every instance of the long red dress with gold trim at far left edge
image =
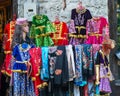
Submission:
<svg viewBox="0 0 120 96">
<path fill-rule="evenodd" d="M 3 48 L 6 54 L 6 57 L 2 67 L 2 72 L 8 76 L 11 75 L 11 60 L 12 60 L 11 43 L 12 43 L 12 37 L 15 29 L 15 23 L 16 21 L 11 21 L 10 23 L 6 24 L 4 29 Z"/>
</svg>

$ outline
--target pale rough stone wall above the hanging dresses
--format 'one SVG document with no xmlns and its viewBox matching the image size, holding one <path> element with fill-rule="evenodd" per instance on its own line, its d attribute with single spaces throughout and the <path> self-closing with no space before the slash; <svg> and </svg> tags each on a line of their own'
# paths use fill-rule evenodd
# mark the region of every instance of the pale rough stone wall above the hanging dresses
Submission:
<svg viewBox="0 0 120 96">
<path fill-rule="evenodd" d="M 35 2 L 38 5 L 37 14 L 45 14 L 51 21 L 59 16 L 61 21 L 68 22 L 71 10 L 77 7 L 79 0 L 66 0 L 66 8 L 63 10 L 63 0 L 18 0 L 18 17 L 24 17 L 24 3 Z M 83 6 L 90 10 L 92 16 L 104 16 L 108 18 L 108 0 L 82 0 Z"/>
</svg>

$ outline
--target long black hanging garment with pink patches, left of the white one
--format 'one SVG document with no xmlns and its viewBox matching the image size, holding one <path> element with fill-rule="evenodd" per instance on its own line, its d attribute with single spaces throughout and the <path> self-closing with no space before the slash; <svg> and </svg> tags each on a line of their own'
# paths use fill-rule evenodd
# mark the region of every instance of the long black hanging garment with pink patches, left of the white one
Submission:
<svg viewBox="0 0 120 96">
<path fill-rule="evenodd" d="M 68 94 L 68 61 L 66 57 L 65 46 L 58 46 L 57 50 L 61 50 L 62 54 L 56 56 L 55 73 L 54 73 L 54 96 L 66 96 Z M 61 70 L 60 74 L 56 71 Z"/>
</svg>

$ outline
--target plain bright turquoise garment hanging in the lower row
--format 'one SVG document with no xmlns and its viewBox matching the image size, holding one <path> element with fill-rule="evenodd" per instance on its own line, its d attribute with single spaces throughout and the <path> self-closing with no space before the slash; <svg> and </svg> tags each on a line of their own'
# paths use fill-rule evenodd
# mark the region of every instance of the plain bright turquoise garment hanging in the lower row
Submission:
<svg viewBox="0 0 120 96">
<path fill-rule="evenodd" d="M 49 76 L 49 65 L 48 65 L 48 47 L 42 47 L 42 68 L 40 71 L 40 77 L 43 81 L 48 81 Z"/>
</svg>

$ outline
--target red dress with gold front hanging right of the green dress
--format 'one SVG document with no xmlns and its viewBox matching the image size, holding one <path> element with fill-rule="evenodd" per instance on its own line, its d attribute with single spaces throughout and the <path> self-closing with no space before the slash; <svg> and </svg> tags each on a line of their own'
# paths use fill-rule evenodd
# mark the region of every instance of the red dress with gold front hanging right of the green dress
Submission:
<svg viewBox="0 0 120 96">
<path fill-rule="evenodd" d="M 68 28 L 65 22 L 53 22 L 56 32 L 51 35 L 54 45 L 68 45 Z"/>
</svg>

